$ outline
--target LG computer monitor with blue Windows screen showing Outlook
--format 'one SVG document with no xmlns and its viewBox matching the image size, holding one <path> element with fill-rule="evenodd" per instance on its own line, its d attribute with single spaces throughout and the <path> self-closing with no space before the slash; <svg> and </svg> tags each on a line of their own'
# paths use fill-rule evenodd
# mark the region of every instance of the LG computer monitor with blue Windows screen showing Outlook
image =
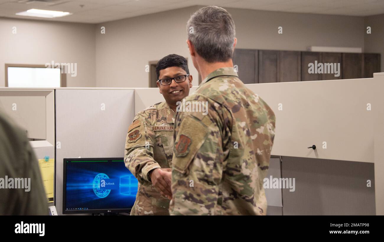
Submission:
<svg viewBox="0 0 384 242">
<path fill-rule="evenodd" d="M 131 211 L 137 179 L 123 158 L 67 158 L 63 163 L 63 214 Z"/>
</svg>

